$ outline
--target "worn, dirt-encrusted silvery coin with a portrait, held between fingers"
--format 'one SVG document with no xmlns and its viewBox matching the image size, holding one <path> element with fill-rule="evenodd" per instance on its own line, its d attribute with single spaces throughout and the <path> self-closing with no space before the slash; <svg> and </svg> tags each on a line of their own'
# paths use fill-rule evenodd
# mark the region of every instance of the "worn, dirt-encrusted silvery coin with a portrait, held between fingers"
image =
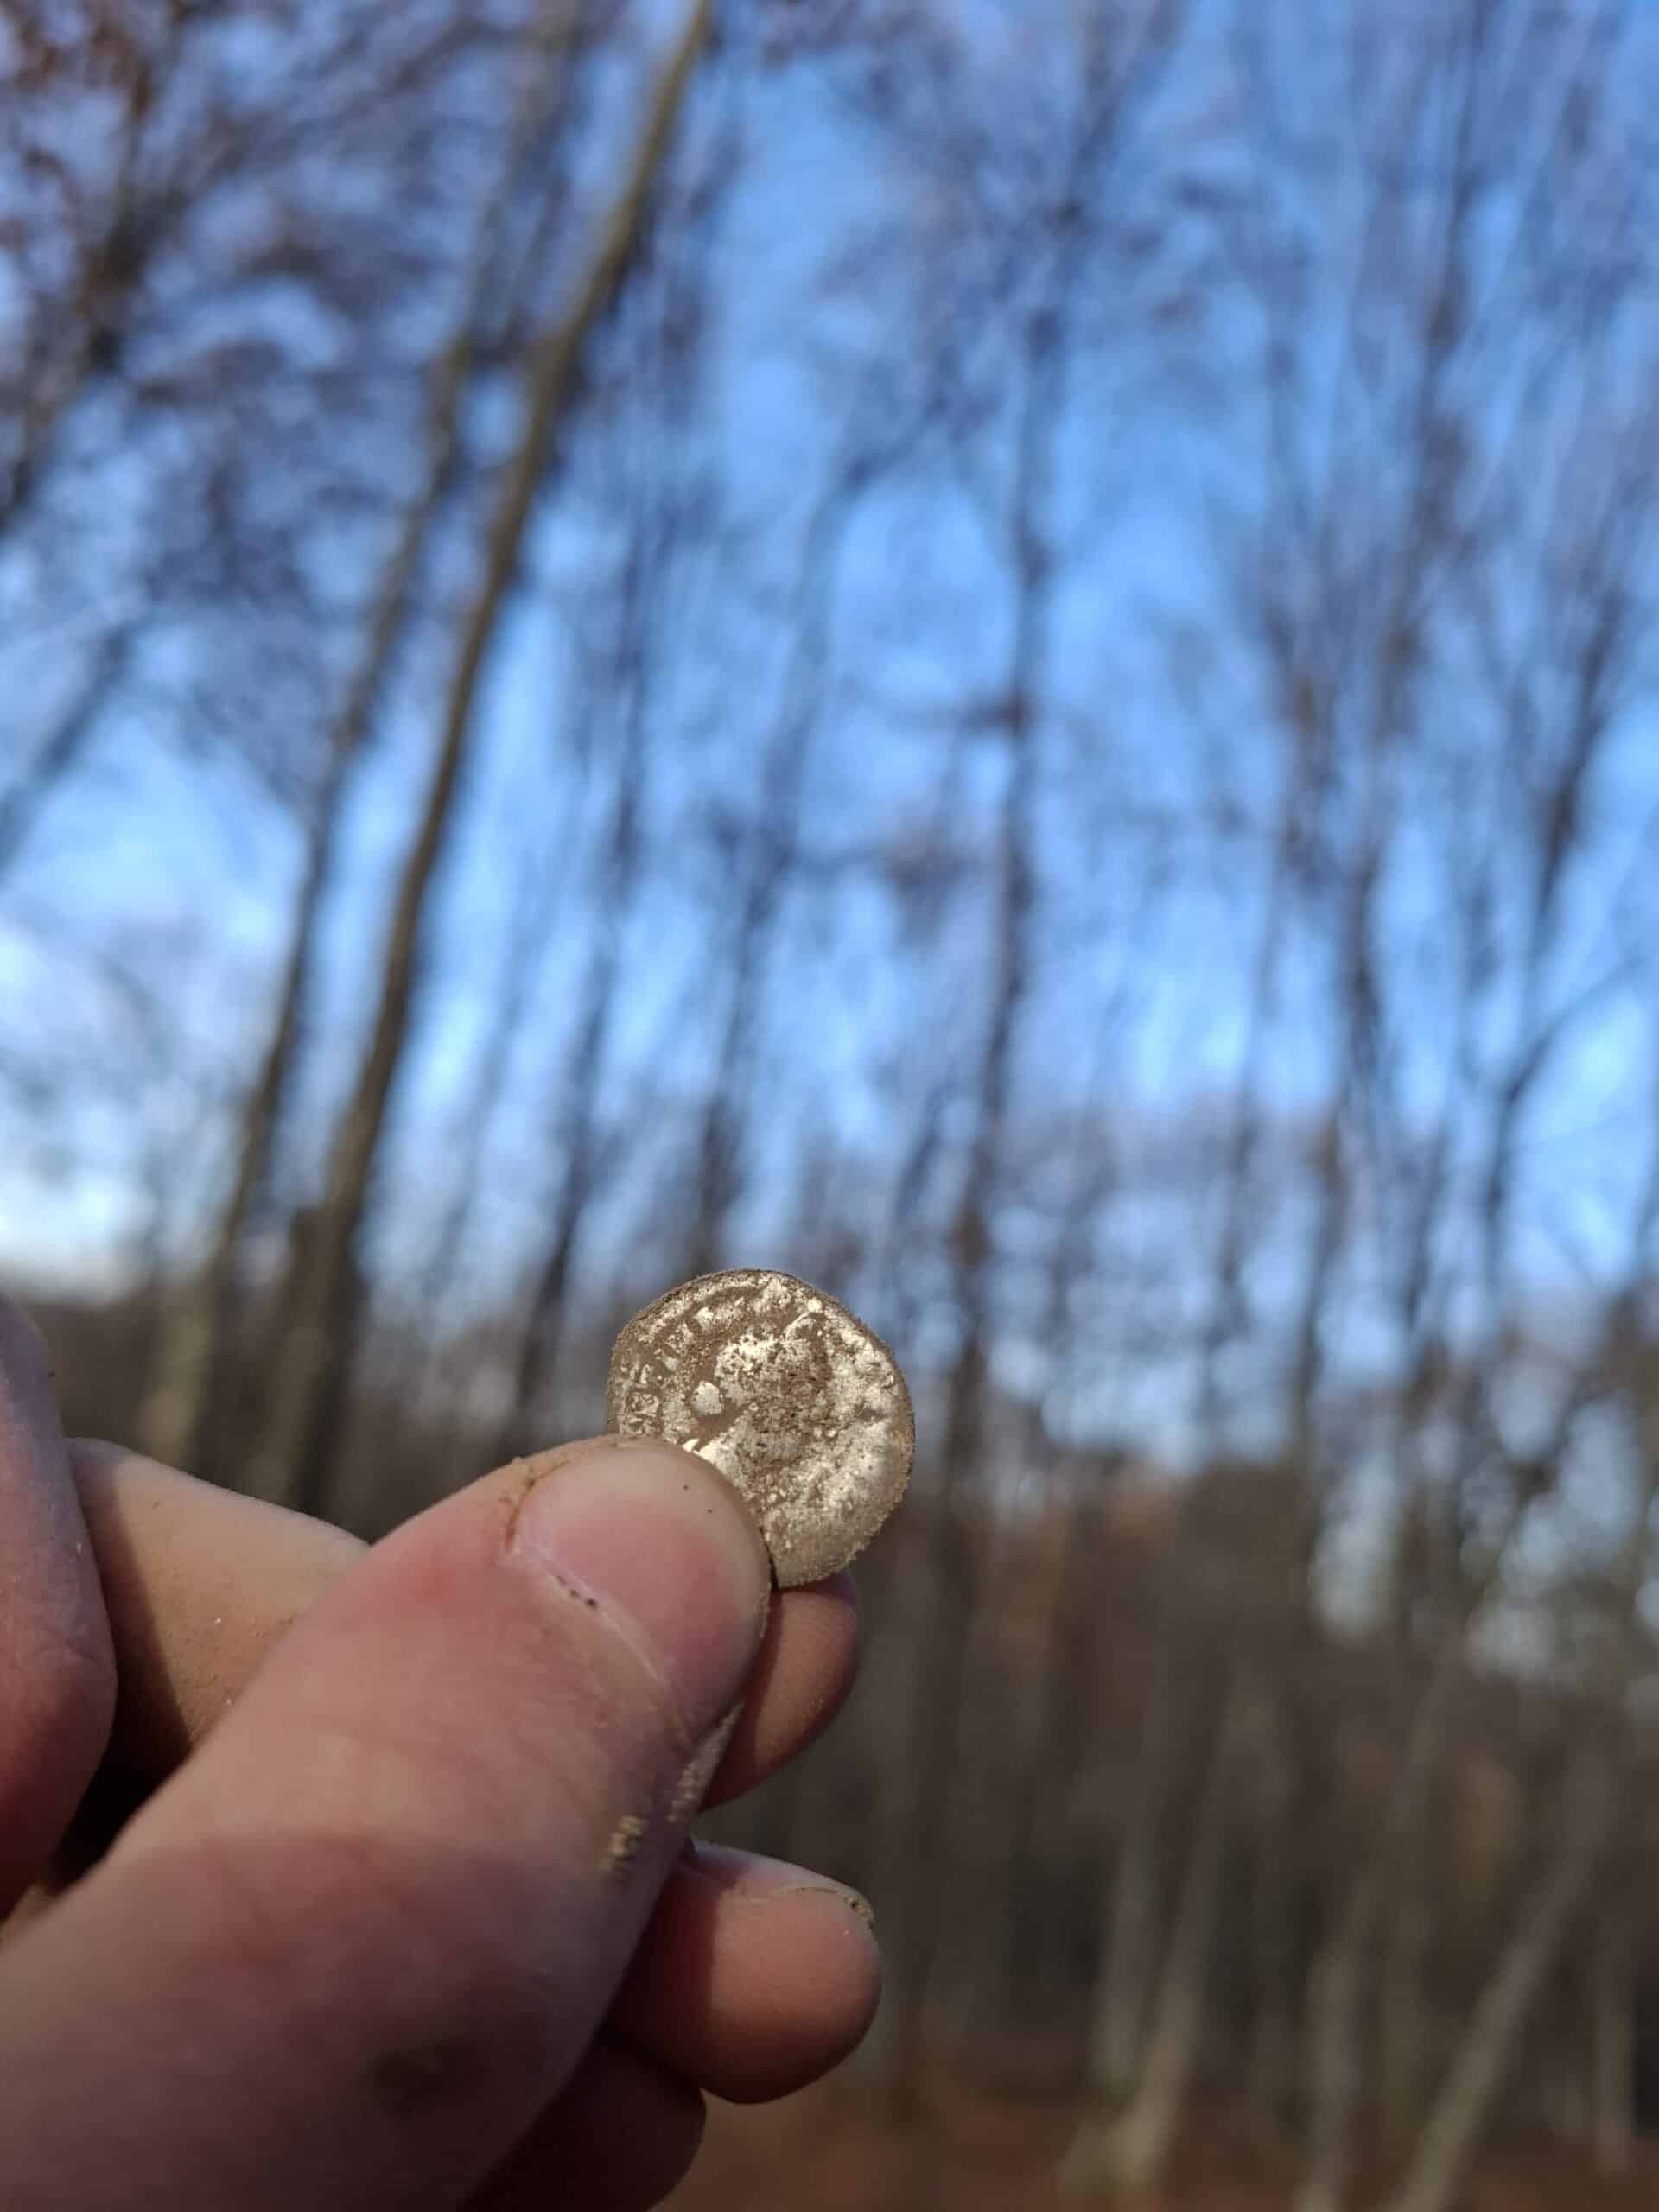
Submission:
<svg viewBox="0 0 1659 2212">
<path fill-rule="evenodd" d="M 916 1455 L 887 1345 L 812 1283 L 763 1267 L 703 1274 L 635 1314 L 611 1354 L 608 1418 L 719 1467 L 785 1590 L 865 1548 Z"/>
</svg>

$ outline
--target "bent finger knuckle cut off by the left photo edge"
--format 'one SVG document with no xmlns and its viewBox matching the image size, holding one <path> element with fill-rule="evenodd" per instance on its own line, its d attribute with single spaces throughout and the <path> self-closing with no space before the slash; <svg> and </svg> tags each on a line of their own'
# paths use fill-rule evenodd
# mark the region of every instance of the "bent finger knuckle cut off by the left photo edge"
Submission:
<svg viewBox="0 0 1659 2212">
<path fill-rule="evenodd" d="M 46 1347 L 0 1296 L 0 1918 L 69 1825 L 113 1710 L 115 1659 Z"/>
</svg>

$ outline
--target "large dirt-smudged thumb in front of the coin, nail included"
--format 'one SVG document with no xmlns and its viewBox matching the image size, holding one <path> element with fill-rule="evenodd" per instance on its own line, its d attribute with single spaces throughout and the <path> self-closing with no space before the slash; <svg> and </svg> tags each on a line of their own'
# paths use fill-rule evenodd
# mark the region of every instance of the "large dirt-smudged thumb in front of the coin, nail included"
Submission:
<svg viewBox="0 0 1659 2212">
<path fill-rule="evenodd" d="M 458 2203 L 593 2037 L 768 1586 L 719 1475 L 617 1438 L 378 1544 L 0 1960 L 0 2194 Z"/>
</svg>

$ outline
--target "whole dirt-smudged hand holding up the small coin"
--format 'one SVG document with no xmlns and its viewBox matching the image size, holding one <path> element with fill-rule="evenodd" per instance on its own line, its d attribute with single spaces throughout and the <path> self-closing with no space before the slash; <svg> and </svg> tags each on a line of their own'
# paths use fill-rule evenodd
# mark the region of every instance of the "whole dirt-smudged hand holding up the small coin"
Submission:
<svg viewBox="0 0 1659 2212">
<path fill-rule="evenodd" d="M 670 1444 L 374 1548 L 66 1447 L 0 1301 L 0 2201 L 657 2203 L 699 2090 L 796 2088 L 874 2011 L 860 1900 L 684 1840 L 710 1765 L 732 1796 L 816 1734 L 854 1632 L 845 1577 L 768 1617 Z"/>
</svg>

